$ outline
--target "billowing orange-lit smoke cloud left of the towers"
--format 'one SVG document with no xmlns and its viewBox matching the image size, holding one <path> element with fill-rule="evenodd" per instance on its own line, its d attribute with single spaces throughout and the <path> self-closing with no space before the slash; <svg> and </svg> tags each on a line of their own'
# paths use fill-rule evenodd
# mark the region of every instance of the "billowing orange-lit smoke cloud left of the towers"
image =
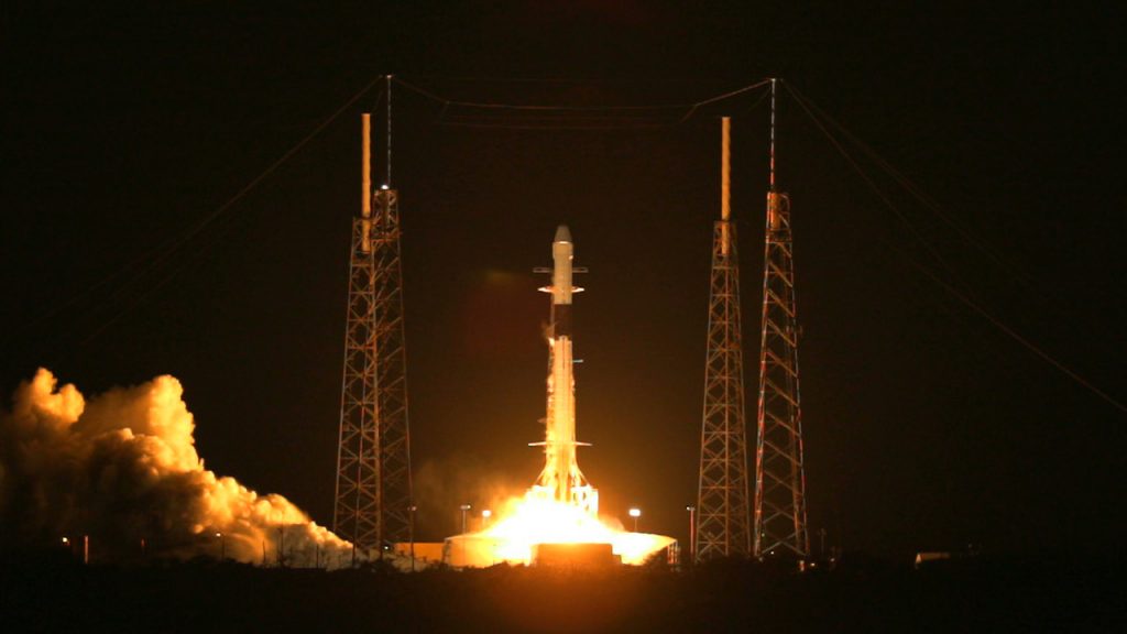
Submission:
<svg viewBox="0 0 1127 634">
<path fill-rule="evenodd" d="M 0 413 L 2 545 L 88 535 L 95 561 L 350 563 L 352 545 L 286 499 L 204 468 L 183 393 L 169 376 L 89 402 L 47 370 L 21 384 Z"/>
</svg>

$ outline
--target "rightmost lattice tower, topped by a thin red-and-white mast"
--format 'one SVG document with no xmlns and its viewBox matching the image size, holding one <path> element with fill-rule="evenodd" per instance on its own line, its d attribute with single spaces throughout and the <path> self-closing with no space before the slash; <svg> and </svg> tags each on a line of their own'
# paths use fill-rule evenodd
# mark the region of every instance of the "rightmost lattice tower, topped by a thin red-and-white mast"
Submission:
<svg viewBox="0 0 1127 634">
<path fill-rule="evenodd" d="M 775 191 L 775 80 L 771 80 L 771 188 L 767 192 L 763 265 L 763 333 L 760 340 L 760 405 L 755 444 L 756 557 L 806 557 L 806 475 L 802 408 L 798 390 L 798 325 L 790 199 Z"/>
</svg>

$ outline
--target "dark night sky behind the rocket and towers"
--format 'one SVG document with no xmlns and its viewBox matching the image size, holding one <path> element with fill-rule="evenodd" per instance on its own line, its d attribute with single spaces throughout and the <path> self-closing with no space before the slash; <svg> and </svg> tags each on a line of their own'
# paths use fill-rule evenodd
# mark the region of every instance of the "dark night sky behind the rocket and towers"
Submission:
<svg viewBox="0 0 1127 634">
<path fill-rule="evenodd" d="M 195 228 L 382 73 L 452 99 L 582 106 L 777 76 L 939 206 L 850 146 L 889 210 L 781 95 L 811 527 L 881 553 L 1122 548 L 1127 415 L 921 270 L 1127 400 L 1120 9 L 275 5 L 6 5 L 5 391 L 38 366 L 88 394 L 171 373 L 210 468 L 330 523 L 358 113 L 379 90 Z M 604 512 L 638 504 L 644 528 L 687 537 L 720 111 L 659 130 L 476 129 L 394 90 L 412 459 L 444 486 L 420 493 L 420 532 L 452 532 L 458 502 L 538 473 L 525 443 L 542 434 L 548 303 L 531 270 L 567 223 L 591 268 L 580 466 Z M 760 95 L 721 107 L 752 416 Z"/>
</svg>

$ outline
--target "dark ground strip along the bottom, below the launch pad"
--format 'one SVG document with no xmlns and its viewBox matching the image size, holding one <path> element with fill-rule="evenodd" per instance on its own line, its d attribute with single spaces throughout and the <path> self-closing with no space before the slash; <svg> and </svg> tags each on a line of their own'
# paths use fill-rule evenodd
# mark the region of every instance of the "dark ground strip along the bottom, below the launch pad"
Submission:
<svg viewBox="0 0 1127 634">
<path fill-rule="evenodd" d="M 399 574 L 8 557 L 6 632 L 1121 632 L 1124 560 Z"/>
</svg>

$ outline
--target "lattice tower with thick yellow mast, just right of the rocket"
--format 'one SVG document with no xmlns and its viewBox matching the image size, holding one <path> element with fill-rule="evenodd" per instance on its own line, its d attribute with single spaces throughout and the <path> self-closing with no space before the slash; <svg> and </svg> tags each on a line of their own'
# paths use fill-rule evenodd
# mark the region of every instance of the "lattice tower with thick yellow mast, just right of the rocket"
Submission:
<svg viewBox="0 0 1127 634">
<path fill-rule="evenodd" d="M 729 204 L 729 129 L 730 120 L 724 117 L 721 204 L 712 238 L 700 488 L 693 545 L 698 561 L 747 556 L 751 552 L 739 261 Z"/>
</svg>

